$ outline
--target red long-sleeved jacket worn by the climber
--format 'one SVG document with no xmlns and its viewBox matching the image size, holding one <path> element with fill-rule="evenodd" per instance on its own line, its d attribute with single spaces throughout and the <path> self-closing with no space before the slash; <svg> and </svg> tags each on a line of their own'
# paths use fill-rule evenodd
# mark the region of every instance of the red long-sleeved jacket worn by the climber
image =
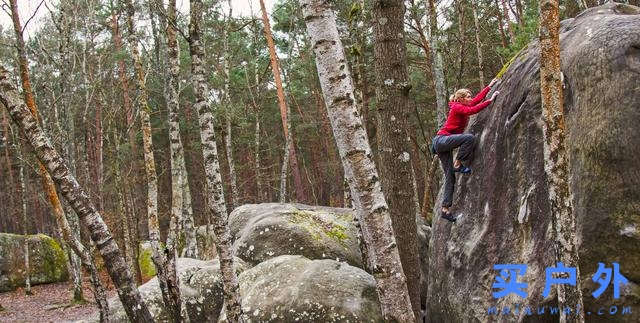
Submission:
<svg viewBox="0 0 640 323">
<path fill-rule="evenodd" d="M 491 100 L 480 103 L 487 96 L 489 90 L 491 90 L 490 87 L 485 87 L 475 98 L 471 99 L 469 105 L 460 102 L 449 102 L 449 116 L 444 126 L 438 131 L 438 134 L 449 136 L 463 133 L 469 122 L 469 116 L 482 111 L 482 109 L 491 104 Z"/>
</svg>

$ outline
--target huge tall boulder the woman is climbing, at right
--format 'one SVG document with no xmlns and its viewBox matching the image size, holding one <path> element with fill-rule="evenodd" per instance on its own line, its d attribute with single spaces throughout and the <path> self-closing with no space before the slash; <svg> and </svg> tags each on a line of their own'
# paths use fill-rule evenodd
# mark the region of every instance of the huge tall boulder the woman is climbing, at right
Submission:
<svg viewBox="0 0 640 323">
<path fill-rule="evenodd" d="M 632 314 L 592 320 L 640 321 L 640 9 L 608 3 L 562 22 L 566 144 L 580 246 L 586 312 L 630 306 Z M 505 320 L 557 320 L 535 315 L 547 299 L 545 268 L 554 266 L 541 123 L 539 46 L 522 51 L 507 69 L 493 106 L 469 132 L 477 136 L 473 173 L 458 176 L 455 224 L 434 221 L 430 242 L 428 314 L 433 322 L 492 321 L 488 309 L 511 308 Z M 436 210 L 440 205 L 436 205 Z M 598 262 L 631 284 L 614 300 L 613 286 L 594 299 Z M 528 297 L 494 299 L 495 264 L 527 264 L 519 281 Z M 513 314 L 515 305 L 520 311 Z M 522 309 L 530 306 L 533 316 Z"/>
</svg>

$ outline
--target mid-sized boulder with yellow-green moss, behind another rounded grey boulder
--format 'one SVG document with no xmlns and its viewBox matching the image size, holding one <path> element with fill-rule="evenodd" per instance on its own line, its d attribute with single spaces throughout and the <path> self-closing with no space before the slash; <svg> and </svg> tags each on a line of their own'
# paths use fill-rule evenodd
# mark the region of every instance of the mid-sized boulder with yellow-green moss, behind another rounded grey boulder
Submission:
<svg viewBox="0 0 640 323">
<path fill-rule="evenodd" d="M 362 267 L 354 211 L 302 204 L 247 204 L 229 215 L 236 256 L 251 265 L 280 255 Z"/>
</svg>

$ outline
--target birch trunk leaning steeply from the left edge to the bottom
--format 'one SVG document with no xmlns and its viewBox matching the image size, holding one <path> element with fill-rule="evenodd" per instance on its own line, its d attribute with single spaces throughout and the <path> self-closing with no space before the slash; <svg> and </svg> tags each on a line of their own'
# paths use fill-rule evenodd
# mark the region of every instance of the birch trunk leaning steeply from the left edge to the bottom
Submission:
<svg viewBox="0 0 640 323">
<path fill-rule="evenodd" d="M 134 322 L 153 322 L 151 313 L 140 297 L 118 245 L 100 213 L 38 125 L 37 110 L 29 111 L 28 106 L 22 103 L 4 68 L 0 68 L 0 90 L 0 105 L 9 111 L 13 121 L 27 137 L 41 164 L 51 174 L 55 185 L 88 227 L 91 239 L 96 243 L 104 259 L 105 267 L 116 286 L 127 316 Z"/>
</svg>

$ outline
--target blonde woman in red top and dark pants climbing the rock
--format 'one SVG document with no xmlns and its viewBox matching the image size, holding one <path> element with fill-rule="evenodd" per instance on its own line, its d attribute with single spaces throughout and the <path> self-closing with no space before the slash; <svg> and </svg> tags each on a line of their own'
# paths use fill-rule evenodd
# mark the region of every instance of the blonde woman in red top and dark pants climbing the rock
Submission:
<svg viewBox="0 0 640 323">
<path fill-rule="evenodd" d="M 432 141 L 432 149 L 440 158 L 440 164 L 442 165 L 445 176 L 444 199 L 442 201 L 442 213 L 440 216 L 450 222 L 456 222 L 457 219 L 449 211 L 453 202 L 453 191 L 456 183 L 455 173 L 471 173 L 468 162 L 471 160 L 473 153 L 475 136 L 472 134 L 463 134 L 463 132 L 469 122 L 469 116 L 482 111 L 482 109 L 491 104 L 500 93 L 496 91 L 491 96 L 491 99 L 482 102 L 496 82 L 497 79 L 493 79 L 491 83 L 489 83 L 489 86 L 480 91 L 474 98 L 471 97 L 471 91 L 467 89 L 457 90 L 449 98 L 451 102 L 449 102 L 449 116 L 447 116 L 447 121 Z M 458 147 L 460 147 L 460 150 L 454 162 L 453 150 Z"/>
</svg>

